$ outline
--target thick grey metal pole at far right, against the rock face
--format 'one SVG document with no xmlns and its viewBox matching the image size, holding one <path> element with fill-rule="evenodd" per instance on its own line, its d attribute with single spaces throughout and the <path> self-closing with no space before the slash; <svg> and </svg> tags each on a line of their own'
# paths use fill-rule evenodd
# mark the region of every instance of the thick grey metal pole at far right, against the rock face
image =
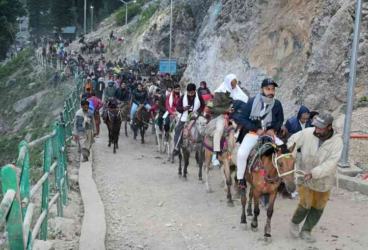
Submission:
<svg viewBox="0 0 368 250">
<path fill-rule="evenodd" d="M 359 50 L 359 36 L 360 36 L 360 22 L 362 18 L 362 0 L 357 0 L 355 5 L 355 25 L 354 25 L 354 36 L 353 36 L 353 48 L 351 50 L 350 59 L 350 73 L 349 73 L 349 86 L 347 89 L 347 102 L 346 102 L 346 113 L 345 113 L 345 125 L 343 134 L 343 149 L 341 155 L 340 167 L 350 167 L 348 162 L 349 159 L 349 143 L 350 143 L 350 129 L 351 129 L 351 117 L 353 113 L 353 102 L 354 102 L 354 85 L 357 76 L 357 60 Z"/>
</svg>

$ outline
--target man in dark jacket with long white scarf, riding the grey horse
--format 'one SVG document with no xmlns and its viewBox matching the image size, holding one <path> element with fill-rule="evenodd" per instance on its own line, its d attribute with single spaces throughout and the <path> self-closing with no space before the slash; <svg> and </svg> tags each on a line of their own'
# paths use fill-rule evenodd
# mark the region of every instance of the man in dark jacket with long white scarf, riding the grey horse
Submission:
<svg viewBox="0 0 368 250">
<path fill-rule="evenodd" d="M 182 130 L 191 112 L 202 113 L 205 109 L 205 100 L 203 100 L 202 95 L 197 93 L 196 86 L 193 83 L 189 83 L 186 86 L 186 93 L 180 97 L 178 104 L 176 106 L 176 111 L 182 114 L 180 121 L 175 128 L 175 148 L 173 150 L 173 156 L 178 156 L 180 154 L 180 147 L 182 143 Z M 180 141 L 179 141 L 180 139 Z M 179 144 L 178 144 L 179 141 Z M 178 144 L 178 145 L 177 145 Z"/>
</svg>

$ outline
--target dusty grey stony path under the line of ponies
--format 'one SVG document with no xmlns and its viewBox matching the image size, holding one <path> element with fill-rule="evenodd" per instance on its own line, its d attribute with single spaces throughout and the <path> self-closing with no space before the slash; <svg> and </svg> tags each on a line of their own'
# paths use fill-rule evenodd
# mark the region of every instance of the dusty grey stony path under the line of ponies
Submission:
<svg viewBox="0 0 368 250">
<path fill-rule="evenodd" d="M 341 190 L 331 196 L 315 229 L 317 243 L 289 237 L 289 221 L 298 200 L 278 197 L 272 218 L 273 242 L 263 245 L 266 212 L 259 232 L 242 230 L 240 203 L 226 205 L 220 174 L 210 172 L 213 193 L 198 183 L 194 161 L 188 181 L 177 177 L 177 164 L 157 152 L 149 132 L 146 144 L 120 137 L 117 154 L 107 148 L 106 127 L 96 140 L 94 176 L 105 205 L 107 250 L 363 250 L 367 248 L 368 199 Z M 177 159 L 176 159 L 177 162 Z"/>
</svg>

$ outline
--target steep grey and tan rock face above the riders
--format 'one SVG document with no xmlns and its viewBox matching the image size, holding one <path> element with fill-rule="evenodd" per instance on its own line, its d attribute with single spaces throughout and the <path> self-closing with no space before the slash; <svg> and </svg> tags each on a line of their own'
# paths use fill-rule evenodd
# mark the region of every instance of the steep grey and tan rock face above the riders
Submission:
<svg viewBox="0 0 368 250">
<path fill-rule="evenodd" d="M 144 28 L 128 25 L 128 59 L 168 58 L 170 1 L 159 2 Z M 182 85 L 206 80 L 213 91 L 228 74 L 257 93 L 257 76 L 274 78 L 286 117 L 301 104 L 311 110 L 344 111 L 349 78 L 355 0 L 174 0 L 173 58 L 187 58 Z M 356 96 L 368 96 L 368 3 L 363 5 Z M 108 36 L 125 27 L 100 25 Z M 108 24 L 106 26 L 106 23 Z M 103 31 L 102 31 L 103 30 Z M 106 33 L 106 34 L 105 34 Z M 93 34 L 92 34 L 93 36 Z M 88 36 L 87 36 L 88 37 Z M 125 50 L 112 48 L 112 59 Z"/>
</svg>

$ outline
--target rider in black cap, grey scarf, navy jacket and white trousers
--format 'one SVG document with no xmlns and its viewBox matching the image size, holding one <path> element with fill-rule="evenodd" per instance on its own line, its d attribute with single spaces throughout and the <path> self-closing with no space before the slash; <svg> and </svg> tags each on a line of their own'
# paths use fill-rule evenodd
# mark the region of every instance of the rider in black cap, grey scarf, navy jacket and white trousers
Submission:
<svg viewBox="0 0 368 250">
<path fill-rule="evenodd" d="M 274 138 L 277 145 L 283 142 L 275 136 L 284 123 L 284 111 L 279 100 L 275 99 L 275 87 L 277 83 L 270 78 L 262 82 L 260 93 L 251 98 L 241 110 L 240 125 L 249 132 L 244 136 L 237 151 L 237 179 L 239 180 L 239 196 L 245 191 L 245 169 L 250 152 L 256 146 L 257 139 L 261 135 L 269 135 Z"/>
</svg>

